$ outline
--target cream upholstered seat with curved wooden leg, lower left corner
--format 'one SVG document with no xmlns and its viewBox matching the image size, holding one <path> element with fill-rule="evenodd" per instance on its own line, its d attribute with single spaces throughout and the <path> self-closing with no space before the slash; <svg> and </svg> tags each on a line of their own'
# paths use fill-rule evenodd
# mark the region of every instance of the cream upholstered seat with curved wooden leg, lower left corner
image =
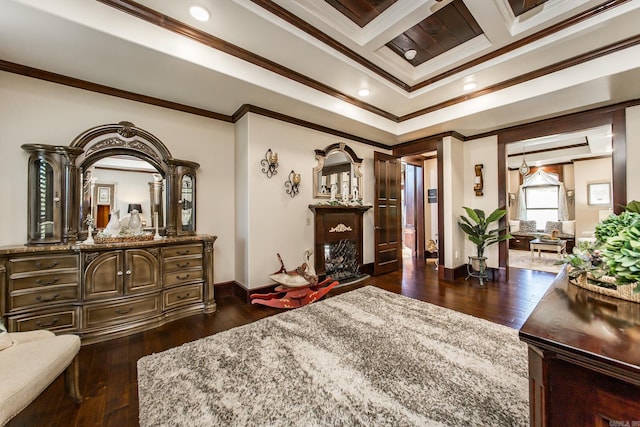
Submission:
<svg viewBox="0 0 640 427">
<path fill-rule="evenodd" d="M 50 331 L 0 333 L 0 426 L 31 403 L 62 372 L 76 403 L 80 338 Z"/>
</svg>

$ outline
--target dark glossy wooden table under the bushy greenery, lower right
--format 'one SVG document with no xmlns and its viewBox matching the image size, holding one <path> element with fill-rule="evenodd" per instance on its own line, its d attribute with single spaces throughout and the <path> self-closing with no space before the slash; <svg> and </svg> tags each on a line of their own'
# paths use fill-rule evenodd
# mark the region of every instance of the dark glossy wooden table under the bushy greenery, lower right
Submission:
<svg viewBox="0 0 640 427">
<path fill-rule="evenodd" d="M 532 426 L 640 426 L 640 304 L 579 288 L 563 269 L 520 339 Z"/>
</svg>

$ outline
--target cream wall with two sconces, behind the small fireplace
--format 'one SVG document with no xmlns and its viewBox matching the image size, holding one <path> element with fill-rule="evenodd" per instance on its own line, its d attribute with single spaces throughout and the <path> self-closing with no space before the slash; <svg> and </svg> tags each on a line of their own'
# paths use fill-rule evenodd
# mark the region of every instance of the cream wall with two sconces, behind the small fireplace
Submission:
<svg viewBox="0 0 640 427">
<path fill-rule="evenodd" d="M 313 199 L 312 170 L 317 165 L 314 150 L 337 142 L 351 147 L 363 159 L 364 189 L 360 190 L 364 203 L 373 204 L 374 148 L 254 114 L 248 115 L 246 127 L 242 138 L 246 139 L 247 155 L 245 159 L 239 157 L 239 162 L 246 164 L 239 167 L 246 167 L 247 181 L 238 190 L 246 191 L 248 217 L 242 216 L 246 223 L 237 226 L 238 230 L 246 230 L 246 238 L 237 242 L 242 246 L 237 251 L 245 255 L 246 262 L 236 277 L 243 286 L 254 289 L 271 283 L 269 274 L 280 267 L 277 253 L 287 269 L 293 269 L 302 263 L 306 249 L 313 250 L 314 219 L 309 205 L 319 201 Z M 271 178 L 260 165 L 269 148 L 278 153 L 279 164 L 277 175 Z M 286 194 L 284 185 L 292 170 L 301 174 L 300 194 L 294 198 Z M 364 215 L 363 244 L 363 262 L 373 262 L 373 209 Z"/>
</svg>

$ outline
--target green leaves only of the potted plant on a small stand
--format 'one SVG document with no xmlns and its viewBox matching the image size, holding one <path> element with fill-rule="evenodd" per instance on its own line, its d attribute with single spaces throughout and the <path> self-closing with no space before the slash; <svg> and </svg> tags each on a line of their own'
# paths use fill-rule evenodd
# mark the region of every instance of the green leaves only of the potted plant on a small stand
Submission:
<svg viewBox="0 0 640 427">
<path fill-rule="evenodd" d="M 466 216 L 461 215 L 458 220 L 458 226 L 467 234 L 469 240 L 476 245 L 478 258 L 482 258 L 484 256 L 484 250 L 487 246 L 504 240 L 509 240 L 513 237 L 509 233 L 503 233 L 506 230 L 506 227 L 498 227 L 488 230 L 489 225 L 499 221 L 507 214 L 506 210 L 496 209 L 491 212 L 489 216 L 487 216 L 482 209 L 471 209 L 464 206 L 464 210 L 467 212 L 469 217 L 467 218 Z"/>
</svg>

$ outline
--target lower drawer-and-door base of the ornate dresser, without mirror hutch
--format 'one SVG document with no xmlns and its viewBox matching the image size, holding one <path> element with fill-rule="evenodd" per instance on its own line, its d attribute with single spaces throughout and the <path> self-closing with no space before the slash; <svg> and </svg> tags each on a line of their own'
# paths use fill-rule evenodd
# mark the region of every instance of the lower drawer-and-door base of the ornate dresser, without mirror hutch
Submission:
<svg viewBox="0 0 640 427">
<path fill-rule="evenodd" d="M 215 236 L 0 248 L 0 315 L 10 332 L 48 329 L 82 343 L 216 310 Z"/>
</svg>

